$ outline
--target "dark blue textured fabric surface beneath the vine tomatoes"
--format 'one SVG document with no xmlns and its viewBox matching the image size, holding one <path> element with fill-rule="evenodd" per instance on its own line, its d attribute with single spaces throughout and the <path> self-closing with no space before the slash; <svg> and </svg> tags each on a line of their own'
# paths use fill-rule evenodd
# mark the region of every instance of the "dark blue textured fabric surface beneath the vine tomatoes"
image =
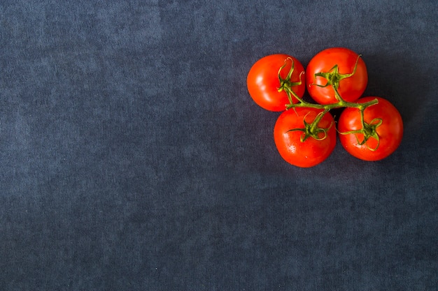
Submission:
<svg viewBox="0 0 438 291">
<path fill-rule="evenodd" d="M 2 1 L 0 290 L 436 290 L 437 1 Z M 404 119 L 285 163 L 246 74 L 348 47 Z"/>
</svg>

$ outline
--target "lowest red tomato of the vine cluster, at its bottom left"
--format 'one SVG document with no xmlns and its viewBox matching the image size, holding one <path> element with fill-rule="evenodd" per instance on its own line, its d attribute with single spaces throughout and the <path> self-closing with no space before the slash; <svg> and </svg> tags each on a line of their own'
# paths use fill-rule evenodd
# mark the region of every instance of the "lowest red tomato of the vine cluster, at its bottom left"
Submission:
<svg viewBox="0 0 438 291">
<path fill-rule="evenodd" d="M 297 167 L 313 167 L 330 156 L 336 145 L 336 128 L 329 112 L 318 122 L 320 129 L 313 130 L 314 137 L 306 137 L 306 128 L 309 130 L 321 112 L 297 107 L 280 114 L 274 126 L 274 142 L 285 161 Z"/>
</svg>

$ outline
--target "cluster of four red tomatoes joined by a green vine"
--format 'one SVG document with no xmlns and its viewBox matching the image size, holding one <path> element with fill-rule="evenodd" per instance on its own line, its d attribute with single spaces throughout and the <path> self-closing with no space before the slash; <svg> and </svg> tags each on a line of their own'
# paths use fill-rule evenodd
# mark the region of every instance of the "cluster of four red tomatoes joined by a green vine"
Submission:
<svg viewBox="0 0 438 291">
<path fill-rule="evenodd" d="M 295 57 L 271 54 L 259 59 L 247 77 L 255 103 L 281 112 L 274 142 L 284 160 L 298 167 L 323 162 L 338 137 L 349 154 L 364 161 L 379 161 L 397 149 L 402 117 L 386 99 L 360 98 L 367 82 L 365 62 L 344 47 L 319 52 L 305 70 Z M 314 102 L 304 100 L 305 91 Z M 330 113 L 334 108 L 344 108 L 337 124 Z"/>
</svg>

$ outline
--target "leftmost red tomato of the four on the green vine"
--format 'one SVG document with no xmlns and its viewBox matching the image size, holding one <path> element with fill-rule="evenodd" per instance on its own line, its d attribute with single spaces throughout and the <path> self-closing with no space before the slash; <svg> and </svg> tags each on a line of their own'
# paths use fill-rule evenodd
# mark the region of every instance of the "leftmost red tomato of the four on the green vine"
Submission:
<svg viewBox="0 0 438 291">
<path fill-rule="evenodd" d="M 288 77 L 292 65 L 292 75 Z M 283 84 L 278 75 L 284 80 Z M 306 90 L 304 68 L 295 57 L 288 54 L 271 54 L 259 59 L 250 68 L 246 84 L 250 96 L 257 105 L 277 112 L 285 110 L 285 105 L 290 104 L 286 93 L 288 89 L 292 89 L 299 98 Z M 292 103 L 297 102 L 298 100 L 292 97 Z"/>
</svg>

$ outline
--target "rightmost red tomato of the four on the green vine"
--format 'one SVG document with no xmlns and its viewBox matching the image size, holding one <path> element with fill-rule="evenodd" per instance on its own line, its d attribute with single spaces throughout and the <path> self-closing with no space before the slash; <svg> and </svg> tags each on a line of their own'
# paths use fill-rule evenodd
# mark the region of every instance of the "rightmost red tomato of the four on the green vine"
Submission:
<svg viewBox="0 0 438 291">
<path fill-rule="evenodd" d="M 367 124 L 367 140 L 362 129 L 358 108 L 348 107 L 339 117 L 339 140 L 348 153 L 364 161 L 379 161 L 393 154 L 402 142 L 403 121 L 397 108 L 388 100 L 379 97 L 360 98 L 358 103 L 377 99 L 379 103 L 364 110 L 363 120 Z"/>
</svg>

